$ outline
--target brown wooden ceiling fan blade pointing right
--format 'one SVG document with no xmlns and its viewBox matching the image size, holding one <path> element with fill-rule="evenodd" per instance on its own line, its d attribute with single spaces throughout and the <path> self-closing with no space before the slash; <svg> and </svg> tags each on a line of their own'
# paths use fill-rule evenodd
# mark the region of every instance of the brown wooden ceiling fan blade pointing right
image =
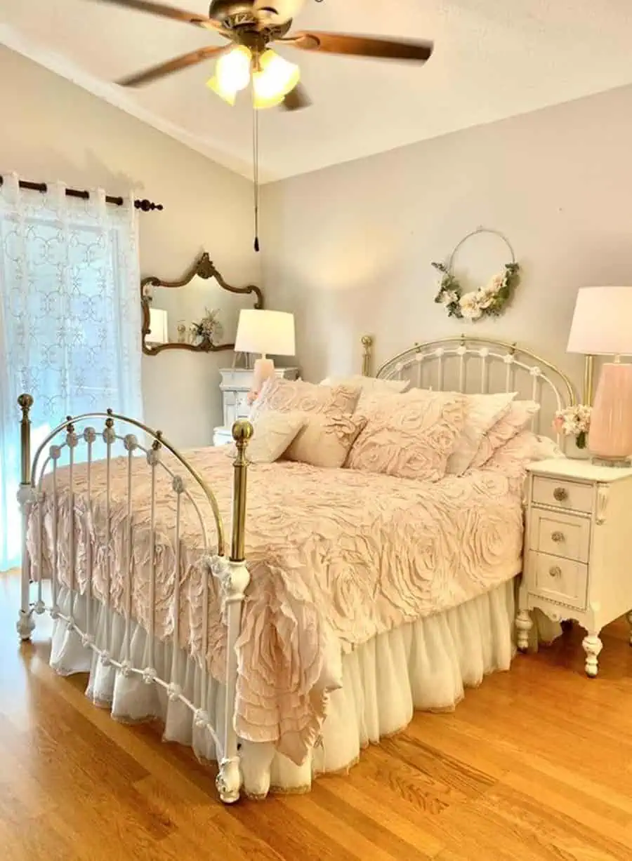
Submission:
<svg viewBox="0 0 632 861">
<path fill-rule="evenodd" d="M 356 57 L 377 59 L 406 59 L 425 63 L 432 55 L 434 45 L 429 41 L 375 39 L 371 36 L 352 36 L 343 33 L 310 31 L 295 33 L 279 39 L 284 45 L 303 51 L 352 54 Z"/>
</svg>

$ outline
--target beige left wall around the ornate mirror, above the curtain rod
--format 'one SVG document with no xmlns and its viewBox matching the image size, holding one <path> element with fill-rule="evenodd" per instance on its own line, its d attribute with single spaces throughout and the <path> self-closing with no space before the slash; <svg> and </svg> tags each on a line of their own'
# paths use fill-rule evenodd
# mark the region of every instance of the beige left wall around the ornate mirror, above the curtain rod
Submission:
<svg viewBox="0 0 632 861">
<path fill-rule="evenodd" d="M 258 282 L 252 185 L 41 66 L 0 47 L 0 172 L 164 204 L 141 214 L 141 273 L 176 278 L 201 250 L 232 283 Z M 232 353 L 143 356 L 148 424 L 181 446 L 222 424 L 218 368 Z"/>
</svg>

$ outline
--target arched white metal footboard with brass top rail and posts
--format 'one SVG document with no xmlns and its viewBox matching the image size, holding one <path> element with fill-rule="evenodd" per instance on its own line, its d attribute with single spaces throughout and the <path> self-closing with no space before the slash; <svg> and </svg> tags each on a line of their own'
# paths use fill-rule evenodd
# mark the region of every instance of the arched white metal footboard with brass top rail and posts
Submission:
<svg viewBox="0 0 632 861">
<path fill-rule="evenodd" d="M 216 498 L 210 487 L 203 480 L 202 476 L 185 460 L 185 457 L 179 454 L 171 443 L 162 436 L 160 431 L 153 431 L 147 425 L 141 424 L 134 418 L 119 415 L 107 410 L 107 412 L 91 412 L 84 413 L 79 416 L 66 417 L 63 424 L 59 424 L 46 439 L 41 443 L 35 451 L 33 461 L 30 458 L 30 418 L 29 412 L 33 406 L 33 398 L 28 394 L 22 394 L 18 398 L 18 404 L 22 409 L 21 421 L 21 443 L 22 443 L 22 481 L 18 491 L 18 502 L 22 511 L 22 587 L 21 587 L 21 605 L 17 621 L 17 632 L 22 641 L 30 639 L 34 630 L 34 615 L 41 615 L 48 612 L 58 623 L 64 623 L 66 629 L 74 631 L 80 637 L 82 645 L 89 647 L 97 654 L 98 659 L 103 666 L 114 666 L 116 670 L 122 672 L 123 676 L 135 674 L 140 676 L 146 684 L 158 684 L 167 692 L 167 696 L 171 701 L 179 701 L 191 710 L 195 725 L 200 728 L 205 728 L 210 734 L 216 746 L 218 774 L 216 778 L 216 786 L 222 802 L 227 804 L 236 802 L 240 796 L 241 790 L 241 770 L 240 758 L 238 753 L 238 742 L 235 734 L 235 726 L 233 721 L 234 703 L 235 703 L 235 686 L 237 681 L 237 655 L 235 652 L 235 642 L 241 630 L 241 606 L 247 590 L 247 585 L 250 582 L 250 574 L 248 573 L 245 554 L 245 523 L 246 523 L 246 492 L 247 492 L 247 443 L 253 434 L 253 427 L 249 422 L 236 422 L 233 426 L 233 437 L 236 445 L 236 457 L 234 461 L 234 487 L 233 487 L 233 530 L 231 536 L 231 550 L 228 560 L 224 557 L 224 530 L 222 525 L 222 517 Z M 105 511 L 106 511 L 106 592 L 110 598 L 110 577 L 111 577 L 111 534 L 110 534 L 110 469 L 112 460 L 112 447 L 117 441 L 122 442 L 127 456 L 127 525 L 128 525 L 128 542 L 127 552 L 128 559 L 126 569 L 128 576 L 125 578 L 125 632 L 123 635 L 123 653 L 122 660 L 115 660 L 110 653 L 110 637 L 112 635 L 112 626 L 114 623 L 114 612 L 110 609 L 109 600 L 105 604 L 105 644 L 100 647 L 97 644 L 95 634 L 95 625 L 91 618 L 91 601 L 93 598 L 92 592 L 92 556 L 90 542 L 87 542 L 88 554 L 86 560 L 86 615 L 84 628 L 80 627 L 78 618 L 75 616 L 77 592 L 75 590 L 75 567 L 76 567 L 76 538 L 74 534 L 69 542 L 69 567 L 70 567 L 70 612 L 64 614 L 59 609 L 57 603 L 59 592 L 59 571 L 58 571 L 58 542 L 57 530 L 59 519 L 59 498 L 57 484 L 58 463 L 64 449 L 68 453 L 68 486 L 70 511 L 74 511 L 74 494 L 73 494 L 73 469 L 76 463 L 75 449 L 80 443 L 85 443 L 87 446 L 87 498 L 88 505 L 85 512 L 86 528 L 87 520 L 91 516 L 91 466 L 92 466 L 92 446 L 97 440 L 97 430 L 88 425 L 84 428 L 81 434 L 76 431 L 76 425 L 85 421 L 102 418 L 105 420 L 101 436 L 106 447 L 106 496 L 105 496 Z M 116 432 L 115 422 L 129 425 L 135 430 L 142 431 L 149 439 L 151 444 L 149 447 L 142 445 L 138 438 L 132 433 L 127 433 L 121 436 Z M 61 441 L 59 442 L 59 437 Z M 53 443 L 53 440 L 58 442 Z M 51 444 L 53 443 L 53 444 Z M 49 446 L 48 455 L 42 461 L 42 455 L 46 447 Z M 183 468 L 184 474 L 175 473 L 172 468 L 161 460 L 161 452 L 163 449 L 171 452 L 176 458 L 176 461 Z M 147 666 L 133 666 L 130 660 L 130 639 L 131 626 L 134 622 L 132 615 L 132 567 L 131 562 L 131 547 L 133 541 L 133 521 L 132 521 L 132 465 L 135 460 L 135 453 L 142 452 L 150 469 L 151 481 L 151 526 L 150 526 L 150 558 L 151 572 L 149 579 L 149 624 L 147 629 L 148 638 L 148 662 Z M 27 533 L 28 522 L 31 513 L 35 508 L 36 526 L 39 532 L 39 567 L 42 572 L 42 532 L 44 529 L 43 506 L 38 505 L 43 501 L 44 491 L 42 490 L 42 480 L 47 466 L 52 465 L 52 484 L 53 484 L 53 565 L 51 571 L 51 603 L 46 604 L 42 592 L 42 579 L 38 578 L 35 585 L 36 598 L 31 599 L 31 560 L 28 555 Z M 193 505 L 197 514 L 197 520 L 200 525 L 200 532 L 203 547 L 203 622 L 202 622 L 202 639 L 203 639 L 203 662 L 201 666 L 201 685 L 199 702 L 192 702 L 185 697 L 184 692 L 178 685 L 177 667 L 178 667 L 178 642 L 179 642 L 179 600 L 180 600 L 180 576 L 174 576 L 173 585 L 173 624 L 172 633 L 172 660 L 169 666 L 168 678 L 161 678 L 155 668 L 154 653 L 155 653 L 155 632 L 154 622 L 156 616 L 156 601 L 155 601 L 155 586 L 156 586 L 156 556 L 155 556 L 155 536 L 156 536 L 156 471 L 162 468 L 166 471 L 172 481 L 172 492 L 176 497 L 176 515 L 174 526 L 174 548 L 175 548 L 175 564 L 174 573 L 180 570 L 180 525 L 181 525 L 181 504 L 182 498 L 185 497 Z M 196 500 L 187 489 L 187 482 L 192 481 L 197 484 L 203 491 L 204 501 L 207 508 L 210 509 L 212 520 L 209 523 L 214 523 L 216 528 L 215 541 L 210 531 L 207 528 L 207 518 L 209 511 L 202 511 L 197 505 Z M 71 520 L 72 531 L 74 533 L 75 521 L 74 517 Z M 209 637 L 209 591 L 210 577 L 216 577 L 221 585 L 222 594 L 222 609 L 227 620 L 227 668 L 226 668 L 226 687 L 225 687 L 225 709 L 224 721 L 221 727 L 214 727 L 210 721 L 210 715 L 205 709 L 207 702 L 207 691 L 209 684 L 209 671 L 206 663 L 206 654 L 208 651 Z"/>
</svg>

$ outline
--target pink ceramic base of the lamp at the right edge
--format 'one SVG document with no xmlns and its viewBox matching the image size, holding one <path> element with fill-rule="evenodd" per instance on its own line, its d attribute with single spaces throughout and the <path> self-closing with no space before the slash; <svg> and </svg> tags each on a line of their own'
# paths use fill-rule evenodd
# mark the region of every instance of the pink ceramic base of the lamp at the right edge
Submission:
<svg viewBox="0 0 632 861">
<path fill-rule="evenodd" d="M 594 463 L 629 467 L 632 455 L 632 364 L 607 362 L 592 407 L 588 449 Z"/>
</svg>

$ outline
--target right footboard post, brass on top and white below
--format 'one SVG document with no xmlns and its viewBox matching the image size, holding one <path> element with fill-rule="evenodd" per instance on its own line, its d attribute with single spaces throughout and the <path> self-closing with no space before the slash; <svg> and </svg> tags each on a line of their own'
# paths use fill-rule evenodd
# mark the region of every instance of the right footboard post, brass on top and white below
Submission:
<svg viewBox="0 0 632 861">
<path fill-rule="evenodd" d="M 222 758 L 217 775 L 217 791 L 222 802 L 238 801 L 241 790 L 240 756 L 235 731 L 235 692 L 237 688 L 236 642 L 241 633 L 241 608 L 250 583 L 246 567 L 246 496 L 247 447 L 253 436 L 253 425 L 238 421 L 233 425 L 236 456 L 233 464 L 233 529 L 230 539 L 230 558 L 225 563 L 222 577 L 223 606 L 227 622 L 226 643 L 226 706 L 221 730 Z M 223 548 L 220 548 L 220 553 Z"/>
</svg>

